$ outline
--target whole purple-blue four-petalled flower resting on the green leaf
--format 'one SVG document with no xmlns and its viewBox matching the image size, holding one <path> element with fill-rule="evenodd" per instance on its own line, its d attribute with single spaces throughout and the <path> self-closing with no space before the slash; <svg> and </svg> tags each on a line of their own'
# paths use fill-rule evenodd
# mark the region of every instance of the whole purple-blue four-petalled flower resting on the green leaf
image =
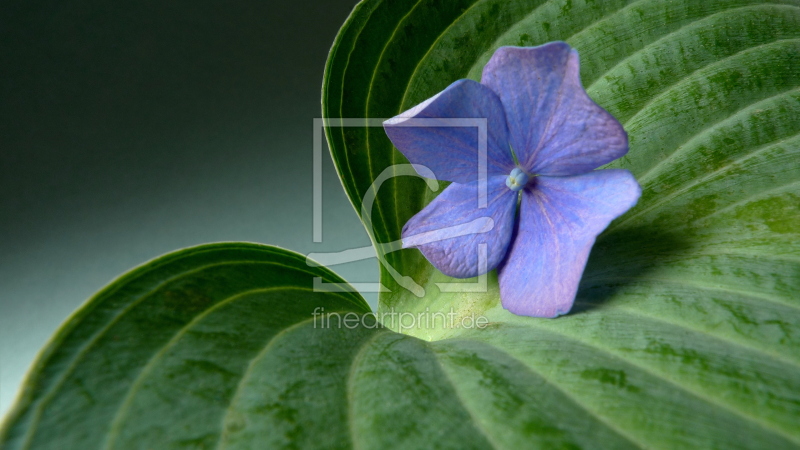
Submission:
<svg viewBox="0 0 800 450">
<path fill-rule="evenodd" d="M 486 154 L 478 128 L 411 120 L 426 118 L 485 118 Z M 594 170 L 627 153 L 628 138 L 586 94 L 578 53 L 563 42 L 502 47 L 480 83 L 456 81 L 384 127 L 409 161 L 453 182 L 406 223 L 403 247 L 451 277 L 497 268 L 503 307 L 515 314 L 569 312 L 595 238 L 641 193 L 626 170 Z M 493 226 L 454 232 L 481 218 Z"/>
</svg>

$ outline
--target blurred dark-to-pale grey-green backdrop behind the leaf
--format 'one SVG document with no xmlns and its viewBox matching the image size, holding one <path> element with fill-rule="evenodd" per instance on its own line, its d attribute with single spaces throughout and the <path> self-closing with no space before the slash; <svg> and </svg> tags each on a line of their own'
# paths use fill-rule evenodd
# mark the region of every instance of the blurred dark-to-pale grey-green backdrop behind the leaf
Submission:
<svg viewBox="0 0 800 450">
<path fill-rule="evenodd" d="M 369 245 L 327 148 L 312 242 L 313 118 L 355 3 L 0 3 L 0 414 L 59 324 L 138 264 Z M 333 269 L 378 277 L 374 259 Z"/>
</svg>

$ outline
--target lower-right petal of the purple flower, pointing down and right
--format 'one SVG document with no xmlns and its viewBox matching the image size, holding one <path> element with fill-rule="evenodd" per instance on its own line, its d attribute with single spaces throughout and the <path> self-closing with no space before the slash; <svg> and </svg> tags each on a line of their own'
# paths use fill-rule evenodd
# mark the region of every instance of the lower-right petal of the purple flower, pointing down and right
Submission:
<svg viewBox="0 0 800 450">
<path fill-rule="evenodd" d="M 534 317 L 569 312 L 595 237 L 640 194 L 627 170 L 536 177 L 523 191 L 519 232 L 498 269 L 503 307 Z"/>
</svg>

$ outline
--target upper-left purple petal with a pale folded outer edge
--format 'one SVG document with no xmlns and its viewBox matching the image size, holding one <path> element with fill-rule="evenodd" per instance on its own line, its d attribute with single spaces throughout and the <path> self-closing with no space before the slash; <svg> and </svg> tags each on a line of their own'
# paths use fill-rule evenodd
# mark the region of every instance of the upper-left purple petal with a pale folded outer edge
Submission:
<svg viewBox="0 0 800 450">
<path fill-rule="evenodd" d="M 469 183 L 480 176 L 479 128 L 474 120 L 455 121 L 461 126 L 452 126 L 453 119 L 461 118 L 487 119 L 487 174 L 507 175 L 514 168 L 514 160 L 503 105 L 491 89 L 473 80 L 456 81 L 383 126 L 394 146 L 412 164 L 428 167 L 440 180 Z"/>
</svg>

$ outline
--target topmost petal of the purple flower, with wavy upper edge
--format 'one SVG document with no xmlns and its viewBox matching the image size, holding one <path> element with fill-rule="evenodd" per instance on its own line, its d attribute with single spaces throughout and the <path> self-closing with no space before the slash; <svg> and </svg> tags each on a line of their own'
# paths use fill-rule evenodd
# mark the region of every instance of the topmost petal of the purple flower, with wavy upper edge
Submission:
<svg viewBox="0 0 800 450">
<path fill-rule="evenodd" d="M 564 42 L 501 47 L 483 69 L 506 111 L 511 146 L 528 172 L 586 173 L 628 152 L 628 136 L 586 94 L 578 53 Z"/>
</svg>

